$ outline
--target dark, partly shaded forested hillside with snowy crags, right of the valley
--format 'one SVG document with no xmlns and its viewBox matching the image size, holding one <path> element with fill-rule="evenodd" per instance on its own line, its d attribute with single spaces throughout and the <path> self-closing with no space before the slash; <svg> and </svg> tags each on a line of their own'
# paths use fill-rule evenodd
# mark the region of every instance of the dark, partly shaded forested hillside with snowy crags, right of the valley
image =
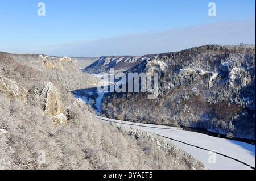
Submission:
<svg viewBox="0 0 256 181">
<path fill-rule="evenodd" d="M 125 73 L 157 72 L 158 98 L 105 94 L 103 116 L 255 141 L 255 45 L 205 45 L 148 57 Z"/>
</svg>

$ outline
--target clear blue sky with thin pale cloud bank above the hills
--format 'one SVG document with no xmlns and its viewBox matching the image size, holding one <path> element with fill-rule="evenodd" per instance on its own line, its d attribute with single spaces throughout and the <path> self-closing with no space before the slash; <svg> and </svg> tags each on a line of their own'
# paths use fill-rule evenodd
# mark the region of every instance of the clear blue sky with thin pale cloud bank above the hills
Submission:
<svg viewBox="0 0 256 181">
<path fill-rule="evenodd" d="M 143 55 L 240 42 L 255 44 L 255 1 L 0 1 L 0 51 L 10 53 Z"/>
</svg>

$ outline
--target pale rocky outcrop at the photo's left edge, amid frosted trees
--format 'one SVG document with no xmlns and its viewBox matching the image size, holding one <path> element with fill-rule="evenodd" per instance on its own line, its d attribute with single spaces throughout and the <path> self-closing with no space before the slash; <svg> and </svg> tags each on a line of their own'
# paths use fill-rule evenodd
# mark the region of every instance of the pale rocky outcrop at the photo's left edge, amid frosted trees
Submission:
<svg viewBox="0 0 256 181">
<path fill-rule="evenodd" d="M 0 75 L 0 93 L 8 98 L 19 98 L 23 103 L 27 102 L 27 90 L 19 87 L 18 84 Z"/>
</svg>

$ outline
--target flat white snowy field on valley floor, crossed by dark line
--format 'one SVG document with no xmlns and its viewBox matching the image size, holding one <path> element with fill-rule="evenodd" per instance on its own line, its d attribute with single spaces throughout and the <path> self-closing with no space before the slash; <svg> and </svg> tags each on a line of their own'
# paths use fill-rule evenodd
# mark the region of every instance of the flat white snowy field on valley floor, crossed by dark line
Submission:
<svg viewBox="0 0 256 181">
<path fill-rule="evenodd" d="M 249 166 L 255 167 L 255 145 L 247 144 L 245 142 L 228 140 L 225 138 L 218 138 L 213 136 L 208 136 L 207 134 L 184 131 L 177 129 L 175 127 L 167 127 L 152 124 L 141 124 L 141 123 L 131 123 L 127 121 L 108 119 L 105 117 L 96 116 L 105 122 L 113 121 L 115 124 L 125 125 L 127 127 L 137 127 L 150 131 L 152 133 L 159 134 L 160 136 L 170 137 L 174 140 L 170 140 L 175 145 L 182 148 L 187 153 L 190 153 L 197 160 L 202 162 L 205 169 L 211 170 L 250 170 Z M 145 127 L 146 126 L 146 127 Z M 181 141 L 181 142 L 180 142 Z M 184 143 L 183 143 L 184 142 Z M 190 144 L 190 145 L 187 145 Z M 194 146 L 191 146 L 194 145 Z M 200 149 L 195 146 L 198 146 Z M 228 157 L 237 159 L 238 162 L 232 158 L 225 157 L 220 154 L 216 154 L 216 159 L 214 159 L 214 153 L 220 153 Z"/>
</svg>

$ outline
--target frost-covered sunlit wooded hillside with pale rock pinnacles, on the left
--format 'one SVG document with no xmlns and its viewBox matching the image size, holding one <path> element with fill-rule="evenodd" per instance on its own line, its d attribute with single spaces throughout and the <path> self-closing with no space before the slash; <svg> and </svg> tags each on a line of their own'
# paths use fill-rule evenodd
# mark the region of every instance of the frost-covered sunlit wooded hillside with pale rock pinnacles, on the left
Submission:
<svg viewBox="0 0 256 181">
<path fill-rule="evenodd" d="M 0 52 L 0 169 L 203 169 L 155 134 L 96 119 L 70 92 L 96 83 L 68 57 Z"/>
</svg>

